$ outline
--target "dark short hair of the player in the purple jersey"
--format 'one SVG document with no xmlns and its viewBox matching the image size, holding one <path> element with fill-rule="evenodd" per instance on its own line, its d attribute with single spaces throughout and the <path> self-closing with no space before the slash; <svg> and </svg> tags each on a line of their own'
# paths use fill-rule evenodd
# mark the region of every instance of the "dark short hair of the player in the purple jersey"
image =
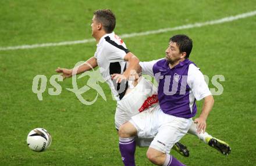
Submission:
<svg viewBox="0 0 256 166">
<path fill-rule="evenodd" d="M 169 42 L 176 42 L 180 52 L 186 52 L 185 58 L 189 58 L 190 52 L 193 47 L 193 41 L 187 35 L 174 35 L 169 39 Z"/>
</svg>

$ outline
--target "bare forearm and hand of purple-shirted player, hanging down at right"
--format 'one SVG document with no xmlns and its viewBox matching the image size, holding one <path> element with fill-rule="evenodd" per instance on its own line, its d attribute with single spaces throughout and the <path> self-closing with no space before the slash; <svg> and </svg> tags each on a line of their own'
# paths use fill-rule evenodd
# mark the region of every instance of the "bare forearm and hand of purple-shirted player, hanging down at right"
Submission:
<svg viewBox="0 0 256 166">
<path fill-rule="evenodd" d="M 198 133 L 205 132 L 205 129 L 207 127 L 206 120 L 213 106 L 214 106 L 214 98 L 212 97 L 212 95 L 206 96 L 204 98 L 204 104 L 202 106 L 202 112 L 200 114 L 200 117 L 195 118 L 194 120 L 194 122 L 197 124 Z"/>
</svg>

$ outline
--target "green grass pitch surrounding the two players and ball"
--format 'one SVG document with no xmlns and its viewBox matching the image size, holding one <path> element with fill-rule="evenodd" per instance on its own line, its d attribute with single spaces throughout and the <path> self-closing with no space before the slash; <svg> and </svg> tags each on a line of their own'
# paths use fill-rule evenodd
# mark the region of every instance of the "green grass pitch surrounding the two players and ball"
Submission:
<svg viewBox="0 0 256 166">
<path fill-rule="evenodd" d="M 117 17 L 115 33 L 140 33 L 221 19 L 256 10 L 248 1 L 1 1 L 0 47 L 91 38 L 91 19 L 96 9 L 112 9 Z M 169 37 L 187 34 L 194 41 L 190 59 L 209 78 L 224 75 L 224 91 L 214 96 L 215 106 L 207 131 L 232 147 L 229 156 L 212 149 L 191 135 L 181 140 L 190 150 L 187 165 L 255 165 L 256 156 L 256 16 L 186 30 L 126 38 L 127 47 L 141 61 L 164 57 Z M 48 94 L 55 68 L 71 68 L 94 55 L 95 42 L 34 49 L 0 50 L 0 165 L 122 165 L 114 125 L 116 102 L 110 89 L 100 83 L 100 96 L 91 106 L 82 104 L 72 80 L 59 84 L 58 96 Z M 48 79 L 43 100 L 31 86 L 35 75 Z M 88 78 L 77 80 L 83 86 Z M 210 88 L 214 88 L 209 84 Z M 83 97 L 94 99 L 96 92 Z M 202 102 L 198 102 L 198 112 Z M 35 153 L 26 145 L 33 128 L 52 135 L 47 151 Z M 147 148 L 137 148 L 136 164 L 152 165 Z"/>
</svg>

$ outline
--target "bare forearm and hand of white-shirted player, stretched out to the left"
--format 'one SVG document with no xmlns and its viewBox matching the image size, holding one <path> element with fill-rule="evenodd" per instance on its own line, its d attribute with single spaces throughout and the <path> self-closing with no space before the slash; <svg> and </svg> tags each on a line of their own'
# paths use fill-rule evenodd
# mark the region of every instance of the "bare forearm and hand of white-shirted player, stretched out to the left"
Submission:
<svg viewBox="0 0 256 166">
<path fill-rule="evenodd" d="M 95 57 L 91 57 L 85 63 L 81 64 L 80 66 L 74 67 L 72 69 L 61 68 L 58 67 L 55 71 L 57 73 L 61 73 L 63 79 L 69 78 L 72 75 L 83 73 L 84 71 L 91 70 L 98 66 L 97 59 Z"/>
</svg>

